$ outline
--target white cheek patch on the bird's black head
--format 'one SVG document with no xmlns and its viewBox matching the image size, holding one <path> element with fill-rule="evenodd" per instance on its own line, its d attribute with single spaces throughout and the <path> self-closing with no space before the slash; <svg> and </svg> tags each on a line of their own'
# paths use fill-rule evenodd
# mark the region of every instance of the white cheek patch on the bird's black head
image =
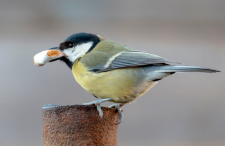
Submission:
<svg viewBox="0 0 225 146">
<path fill-rule="evenodd" d="M 75 62 L 78 58 L 85 55 L 92 45 L 93 42 L 83 43 L 73 48 L 65 49 L 64 53 L 71 62 Z"/>
</svg>

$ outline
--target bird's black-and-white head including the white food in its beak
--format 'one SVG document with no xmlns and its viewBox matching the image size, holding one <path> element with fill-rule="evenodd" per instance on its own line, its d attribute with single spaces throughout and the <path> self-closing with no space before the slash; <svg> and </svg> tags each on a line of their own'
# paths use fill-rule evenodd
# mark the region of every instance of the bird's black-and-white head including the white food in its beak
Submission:
<svg viewBox="0 0 225 146">
<path fill-rule="evenodd" d="M 47 62 L 62 60 L 72 68 L 73 63 L 90 52 L 100 42 L 100 39 L 98 35 L 90 33 L 73 34 L 60 43 L 58 47 L 36 54 L 34 56 L 34 64 L 43 66 Z"/>
</svg>

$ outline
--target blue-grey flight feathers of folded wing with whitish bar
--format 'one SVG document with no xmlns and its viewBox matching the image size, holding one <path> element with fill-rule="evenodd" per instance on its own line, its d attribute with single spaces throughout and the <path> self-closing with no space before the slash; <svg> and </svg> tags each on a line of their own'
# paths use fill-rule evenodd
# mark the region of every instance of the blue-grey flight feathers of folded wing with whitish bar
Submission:
<svg viewBox="0 0 225 146">
<path fill-rule="evenodd" d="M 157 55 L 149 54 L 142 51 L 124 51 L 115 55 L 109 59 L 104 69 L 99 72 L 105 72 L 113 69 L 119 68 L 131 68 L 131 67 L 141 67 L 148 65 L 169 65 L 171 63 L 176 63 L 174 61 L 167 60 L 165 58 L 159 57 Z"/>
</svg>

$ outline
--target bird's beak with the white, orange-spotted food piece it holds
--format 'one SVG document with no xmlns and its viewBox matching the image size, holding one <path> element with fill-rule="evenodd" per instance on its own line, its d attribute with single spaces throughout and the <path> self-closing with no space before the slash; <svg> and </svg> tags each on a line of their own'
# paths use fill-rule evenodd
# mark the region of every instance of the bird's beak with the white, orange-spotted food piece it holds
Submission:
<svg viewBox="0 0 225 146">
<path fill-rule="evenodd" d="M 59 50 L 58 47 L 50 48 L 36 54 L 34 56 L 34 64 L 37 66 L 43 66 L 48 62 L 56 61 L 64 56 L 65 54 Z"/>
</svg>

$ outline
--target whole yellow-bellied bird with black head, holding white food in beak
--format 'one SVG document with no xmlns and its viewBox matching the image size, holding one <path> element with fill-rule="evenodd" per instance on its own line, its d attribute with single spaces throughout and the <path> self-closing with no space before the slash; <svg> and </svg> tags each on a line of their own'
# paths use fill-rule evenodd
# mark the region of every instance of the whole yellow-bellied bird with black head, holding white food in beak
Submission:
<svg viewBox="0 0 225 146">
<path fill-rule="evenodd" d="M 109 108 L 121 107 L 141 97 L 163 78 L 176 72 L 215 73 L 218 70 L 180 65 L 175 61 L 136 50 L 92 33 L 75 33 L 57 47 L 34 56 L 34 63 L 43 66 L 61 60 L 72 70 L 75 80 L 97 100 L 94 104 L 103 117 L 100 104 L 113 102 Z"/>
</svg>

